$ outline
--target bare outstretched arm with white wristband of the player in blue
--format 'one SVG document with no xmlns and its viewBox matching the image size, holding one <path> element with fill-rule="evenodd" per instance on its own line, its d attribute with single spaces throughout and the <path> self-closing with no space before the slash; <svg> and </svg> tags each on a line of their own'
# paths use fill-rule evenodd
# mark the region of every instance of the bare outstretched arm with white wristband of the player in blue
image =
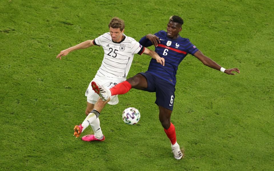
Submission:
<svg viewBox="0 0 274 171">
<path fill-rule="evenodd" d="M 194 56 L 198 58 L 204 65 L 213 68 L 215 70 L 219 70 L 224 72 L 225 74 L 235 75 L 233 71 L 240 73 L 240 70 L 238 68 L 231 68 L 231 69 L 224 69 L 219 64 L 217 64 L 215 61 L 211 60 L 207 56 L 205 56 L 200 50 L 195 52 Z"/>
</svg>

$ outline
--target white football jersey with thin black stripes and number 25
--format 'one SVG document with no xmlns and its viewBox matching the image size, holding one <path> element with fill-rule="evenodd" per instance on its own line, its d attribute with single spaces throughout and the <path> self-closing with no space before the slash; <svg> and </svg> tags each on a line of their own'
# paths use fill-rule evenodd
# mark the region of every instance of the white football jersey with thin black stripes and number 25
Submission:
<svg viewBox="0 0 274 171">
<path fill-rule="evenodd" d="M 104 49 L 104 59 L 95 78 L 111 77 L 125 79 L 134 54 L 138 53 L 141 55 L 145 49 L 134 38 L 126 35 L 124 35 L 124 38 L 120 42 L 113 42 L 109 32 L 95 38 L 92 43 L 102 46 Z"/>
</svg>

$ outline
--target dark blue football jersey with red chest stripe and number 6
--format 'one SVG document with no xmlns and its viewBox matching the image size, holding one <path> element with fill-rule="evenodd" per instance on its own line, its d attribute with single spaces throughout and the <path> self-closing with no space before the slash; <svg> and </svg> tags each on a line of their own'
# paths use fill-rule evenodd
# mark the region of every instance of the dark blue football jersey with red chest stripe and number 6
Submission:
<svg viewBox="0 0 274 171">
<path fill-rule="evenodd" d="M 157 63 L 155 59 L 151 59 L 146 72 L 154 74 L 175 86 L 178 65 L 187 54 L 193 55 L 198 51 L 198 48 L 196 48 L 188 38 L 182 38 L 180 35 L 176 39 L 168 38 L 167 33 L 164 30 L 159 31 L 154 35 L 160 39 L 160 43 L 155 47 L 155 52 L 162 58 L 165 58 L 165 66 Z M 146 36 L 141 38 L 139 43 L 145 47 L 152 45 L 152 42 L 150 42 Z"/>
</svg>

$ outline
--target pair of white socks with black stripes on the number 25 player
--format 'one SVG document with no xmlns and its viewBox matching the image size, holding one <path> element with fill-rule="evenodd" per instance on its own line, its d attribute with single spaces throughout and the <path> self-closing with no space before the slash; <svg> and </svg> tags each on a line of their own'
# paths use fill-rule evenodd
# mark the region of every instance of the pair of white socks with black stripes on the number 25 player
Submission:
<svg viewBox="0 0 274 171">
<path fill-rule="evenodd" d="M 103 136 L 103 133 L 100 127 L 100 120 L 98 118 L 99 115 L 100 113 L 96 111 L 95 109 L 93 109 L 82 123 L 82 127 L 83 127 L 82 132 L 84 131 L 84 129 L 88 127 L 88 125 L 90 125 L 94 132 L 94 137 L 97 139 L 100 139 Z"/>
</svg>

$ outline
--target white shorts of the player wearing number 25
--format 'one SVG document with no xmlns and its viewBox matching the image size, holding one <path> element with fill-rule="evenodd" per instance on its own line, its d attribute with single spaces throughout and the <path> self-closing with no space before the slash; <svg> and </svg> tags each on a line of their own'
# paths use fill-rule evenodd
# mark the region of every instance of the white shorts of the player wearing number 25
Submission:
<svg viewBox="0 0 274 171">
<path fill-rule="evenodd" d="M 93 78 L 91 82 L 96 82 L 96 84 L 99 84 L 101 86 L 104 86 L 106 89 L 110 89 L 111 87 L 115 86 L 116 84 L 119 84 L 120 82 L 123 82 L 125 79 L 111 79 L 111 78 Z M 95 104 L 96 101 L 100 98 L 97 93 L 92 89 L 91 82 L 88 85 L 88 89 L 86 89 L 86 99 L 88 103 Z M 110 101 L 108 104 L 110 105 L 116 105 L 119 102 L 118 95 L 112 95 L 110 96 Z"/>
</svg>

